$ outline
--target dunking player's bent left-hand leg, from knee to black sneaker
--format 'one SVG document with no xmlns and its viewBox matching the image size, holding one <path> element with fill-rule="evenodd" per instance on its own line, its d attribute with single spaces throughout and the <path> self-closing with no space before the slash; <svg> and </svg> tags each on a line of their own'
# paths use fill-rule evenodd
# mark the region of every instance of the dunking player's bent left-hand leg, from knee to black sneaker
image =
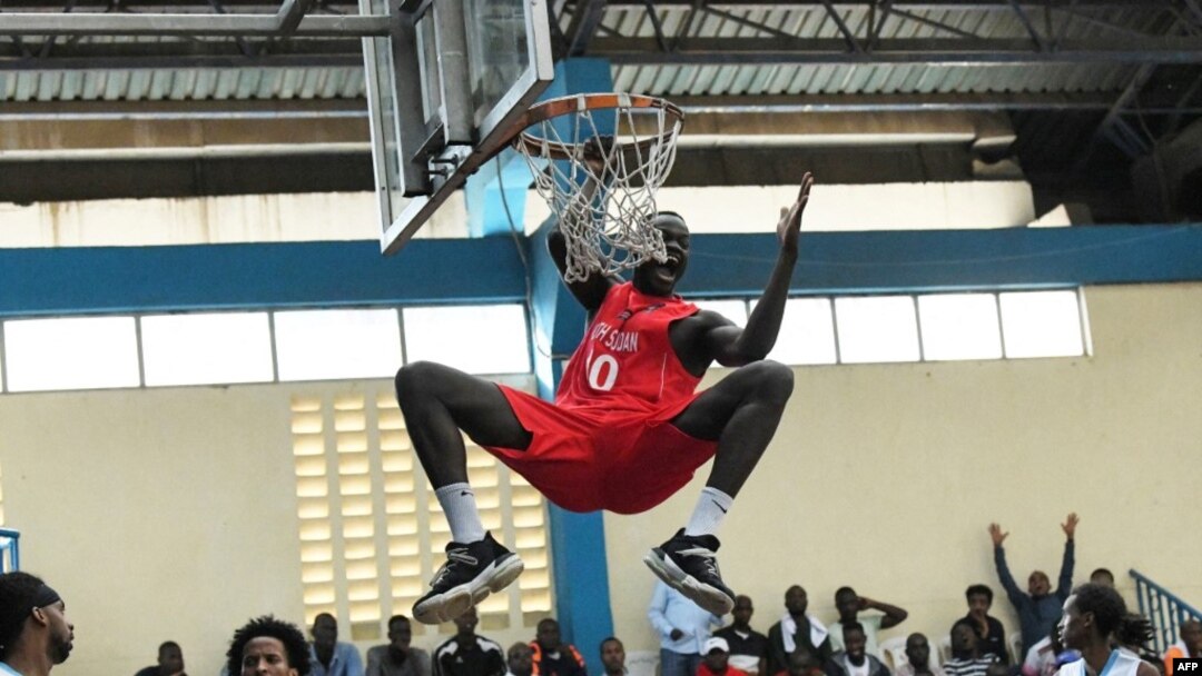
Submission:
<svg viewBox="0 0 1202 676">
<path fill-rule="evenodd" d="M 413 604 L 426 624 L 450 622 L 522 573 L 522 560 L 484 532 L 468 485 L 460 430 L 486 445 L 525 448 L 526 431 L 494 383 L 433 363 L 397 372 L 397 401 L 422 467 L 435 487 L 452 539 L 430 591 Z"/>
</svg>

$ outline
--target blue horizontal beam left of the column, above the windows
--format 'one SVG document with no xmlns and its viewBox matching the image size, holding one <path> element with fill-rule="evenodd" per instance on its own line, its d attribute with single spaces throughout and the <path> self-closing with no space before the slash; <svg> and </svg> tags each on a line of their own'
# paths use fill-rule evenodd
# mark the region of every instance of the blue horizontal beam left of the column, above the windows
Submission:
<svg viewBox="0 0 1202 676">
<path fill-rule="evenodd" d="M 510 239 L 0 250 L 0 316 L 525 300 Z"/>
</svg>

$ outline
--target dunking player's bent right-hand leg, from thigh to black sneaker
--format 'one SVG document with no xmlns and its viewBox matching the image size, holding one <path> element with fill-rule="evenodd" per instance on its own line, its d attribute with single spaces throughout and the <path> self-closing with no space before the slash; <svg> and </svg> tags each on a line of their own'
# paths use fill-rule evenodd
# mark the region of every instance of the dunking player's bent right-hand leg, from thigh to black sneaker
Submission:
<svg viewBox="0 0 1202 676">
<path fill-rule="evenodd" d="M 702 393 L 672 421 L 691 436 L 718 441 L 714 468 L 706 487 L 713 495 L 703 492 L 697 505 L 697 512 L 714 513 L 712 525 L 730 509 L 731 498 L 763 455 L 792 391 L 791 369 L 774 361 L 756 361 Z M 694 520 L 697 516 L 695 513 Z M 682 528 L 672 539 L 653 549 L 643 562 L 665 584 L 701 608 L 725 615 L 734 608 L 734 592 L 722 582 L 718 568 L 715 554 L 720 543 L 708 532 L 713 526 L 701 530 L 707 532 L 686 534 Z"/>
</svg>

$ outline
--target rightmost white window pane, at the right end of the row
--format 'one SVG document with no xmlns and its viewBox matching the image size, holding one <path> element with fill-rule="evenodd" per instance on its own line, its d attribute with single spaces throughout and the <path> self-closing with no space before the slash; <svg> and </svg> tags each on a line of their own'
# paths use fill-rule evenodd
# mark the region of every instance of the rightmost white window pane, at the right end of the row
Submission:
<svg viewBox="0 0 1202 676">
<path fill-rule="evenodd" d="M 1076 291 L 1002 293 L 998 298 L 1001 301 L 1006 357 L 1077 357 L 1085 353 Z"/>
</svg>

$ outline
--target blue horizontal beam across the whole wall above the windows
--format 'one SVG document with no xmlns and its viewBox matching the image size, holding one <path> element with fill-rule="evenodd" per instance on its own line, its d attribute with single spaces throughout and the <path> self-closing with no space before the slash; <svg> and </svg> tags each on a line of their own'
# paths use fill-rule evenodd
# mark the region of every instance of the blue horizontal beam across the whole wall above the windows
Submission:
<svg viewBox="0 0 1202 676">
<path fill-rule="evenodd" d="M 756 295 L 776 243 L 698 234 L 680 291 Z M 531 243 L 530 263 L 546 258 Z M 547 262 L 549 264 L 549 261 Z M 532 283 L 559 293 L 552 270 Z M 393 257 L 371 241 L 0 250 L 0 316 L 240 307 L 518 303 L 526 270 L 510 238 L 418 239 Z M 1202 225 L 803 233 L 793 293 L 841 294 L 1202 281 Z M 583 330 L 553 295 L 552 352 Z M 543 312 L 547 306 L 536 309 Z M 573 315 L 575 313 L 575 315 Z"/>
</svg>

